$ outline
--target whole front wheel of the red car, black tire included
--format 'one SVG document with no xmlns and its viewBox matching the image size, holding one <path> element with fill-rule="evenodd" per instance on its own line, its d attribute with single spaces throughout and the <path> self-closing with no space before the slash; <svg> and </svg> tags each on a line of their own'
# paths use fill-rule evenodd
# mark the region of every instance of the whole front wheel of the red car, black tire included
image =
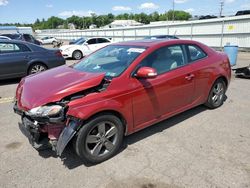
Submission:
<svg viewBox="0 0 250 188">
<path fill-rule="evenodd" d="M 100 115 L 83 125 L 75 139 L 79 157 L 97 164 L 113 157 L 121 147 L 124 127 L 121 120 L 112 115 Z"/>
</svg>

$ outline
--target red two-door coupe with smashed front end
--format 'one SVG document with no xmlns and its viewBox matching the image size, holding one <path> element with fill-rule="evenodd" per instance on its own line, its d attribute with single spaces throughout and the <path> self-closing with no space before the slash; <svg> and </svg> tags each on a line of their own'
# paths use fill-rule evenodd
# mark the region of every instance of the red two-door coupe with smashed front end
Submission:
<svg viewBox="0 0 250 188">
<path fill-rule="evenodd" d="M 228 57 L 199 42 L 122 42 L 24 78 L 14 111 L 34 148 L 61 155 L 72 141 L 81 158 L 99 163 L 126 135 L 197 105 L 221 106 L 230 77 Z"/>
</svg>

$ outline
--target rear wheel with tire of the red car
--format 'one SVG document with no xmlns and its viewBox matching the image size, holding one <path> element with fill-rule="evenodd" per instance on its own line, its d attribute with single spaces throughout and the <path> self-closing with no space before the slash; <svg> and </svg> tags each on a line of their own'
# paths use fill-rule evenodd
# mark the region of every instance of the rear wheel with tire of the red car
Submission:
<svg viewBox="0 0 250 188">
<path fill-rule="evenodd" d="M 224 103 L 224 100 L 226 97 L 225 93 L 226 93 L 225 82 L 222 79 L 216 80 L 210 90 L 210 93 L 209 93 L 209 96 L 205 105 L 211 109 L 220 107 Z"/>
</svg>

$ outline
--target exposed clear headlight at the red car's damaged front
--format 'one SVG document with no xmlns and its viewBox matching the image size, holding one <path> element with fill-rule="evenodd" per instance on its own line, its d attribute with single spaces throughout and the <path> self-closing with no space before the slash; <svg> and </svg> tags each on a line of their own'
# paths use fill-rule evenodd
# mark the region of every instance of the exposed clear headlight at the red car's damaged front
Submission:
<svg viewBox="0 0 250 188">
<path fill-rule="evenodd" d="M 26 114 L 35 117 L 55 117 L 59 115 L 62 110 L 63 107 L 60 105 L 39 106 L 29 110 Z"/>
</svg>

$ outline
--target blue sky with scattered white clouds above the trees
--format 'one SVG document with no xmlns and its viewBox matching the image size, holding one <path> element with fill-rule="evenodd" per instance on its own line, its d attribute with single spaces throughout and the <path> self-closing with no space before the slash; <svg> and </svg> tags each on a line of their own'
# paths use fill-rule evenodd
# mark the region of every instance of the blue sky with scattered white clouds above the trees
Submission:
<svg viewBox="0 0 250 188">
<path fill-rule="evenodd" d="M 173 8 L 192 15 L 219 15 L 224 1 L 223 15 L 234 15 L 238 10 L 250 10 L 250 0 L 0 0 L 0 23 L 34 23 L 39 18 L 72 15 L 89 16 L 91 13 L 164 13 Z"/>
</svg>

